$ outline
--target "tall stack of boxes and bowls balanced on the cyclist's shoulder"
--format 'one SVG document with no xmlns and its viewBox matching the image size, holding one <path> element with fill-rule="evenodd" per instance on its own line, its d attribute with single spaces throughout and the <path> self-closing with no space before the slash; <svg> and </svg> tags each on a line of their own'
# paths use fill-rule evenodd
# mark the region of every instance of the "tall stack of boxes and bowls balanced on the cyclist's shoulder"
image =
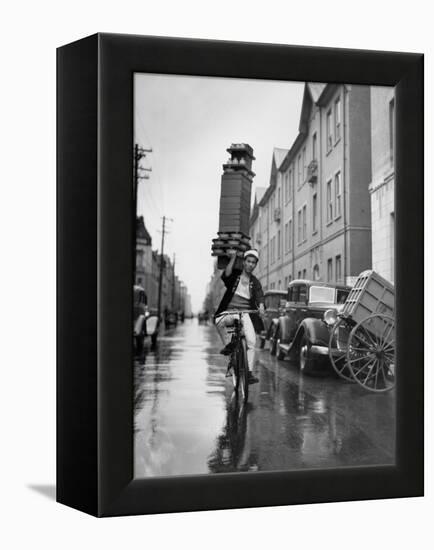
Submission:
<svg viewBox="0 0 434 550">
<path fill-rule="evenodd" d="M 224 269 L 229 261 L 228 249 L 237 250 L 235 267 L 241 269 L 242 257 L 250 248 L 249 219 L 254 160 L 253 149 L 245 143 L 234 143 L 227 149 L 231 155 L 223 165 L 220 192 L 218 237 L 213 239 L 212 255 L 217 267 Z"/>
</svg>

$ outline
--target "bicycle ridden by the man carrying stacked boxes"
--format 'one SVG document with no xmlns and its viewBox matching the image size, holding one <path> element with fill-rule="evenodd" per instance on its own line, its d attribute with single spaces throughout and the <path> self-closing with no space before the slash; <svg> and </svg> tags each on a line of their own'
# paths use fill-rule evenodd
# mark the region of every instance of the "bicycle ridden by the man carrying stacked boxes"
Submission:
<svg viewBox="0 0 434 550">
<path fill-rule="evenodd" d="M 257 309 L 233 309 L 224 311 L 219 315 L 219 317 L 226 317 L 227 315 L 238 316 L 238 319 L 234 319 L 233 325 L 226 325 L 228 333 L 232 334 L 232 342 L 234 342 L 234 349 L 230 354 L 228 371 L 231 370 L 232 383 L 236 395 L 239 396 L 239 394 L 241 394 L 243 402 L 246 403 L 249 397 L 249 367 L 247 363 L 246 337 L 243 332 L 243 313 L 259 314 Z"/>
</svg>

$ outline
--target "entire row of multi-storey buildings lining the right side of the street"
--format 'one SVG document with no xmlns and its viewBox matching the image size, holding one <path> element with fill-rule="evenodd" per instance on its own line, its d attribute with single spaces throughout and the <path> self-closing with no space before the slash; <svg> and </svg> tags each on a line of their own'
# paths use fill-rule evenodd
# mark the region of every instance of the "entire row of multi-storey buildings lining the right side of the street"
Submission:
<svg viewBox="0 0 434 550">
<path fill-rule="evenodd" d="M 300 278 L 353 284 L 370 268 L 394 281 L 394 120 L 393 88 L 305 84 L 298 135 L 274 149 L 251 212 L 265 290 Z"/>
</svg>

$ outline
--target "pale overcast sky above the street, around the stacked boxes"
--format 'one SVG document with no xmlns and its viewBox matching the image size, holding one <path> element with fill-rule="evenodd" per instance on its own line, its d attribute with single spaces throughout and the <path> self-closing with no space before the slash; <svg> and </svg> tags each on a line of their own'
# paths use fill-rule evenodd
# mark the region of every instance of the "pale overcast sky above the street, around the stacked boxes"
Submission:
<svg viewBox="0 0 434 550">
<path fill-rule="evenodd" d="M 232 143 L 248 143 L 255 187 L 267 187 L 274 147 L 289 149 L 298 134 L 304 83 L 136 73 L 134 142 L 151 149 L 141 166 L 138 215 L 152 248 L 175 255 L 194 312 L 202 308 L 215 258 L 222 164 Z"/>
</svg>

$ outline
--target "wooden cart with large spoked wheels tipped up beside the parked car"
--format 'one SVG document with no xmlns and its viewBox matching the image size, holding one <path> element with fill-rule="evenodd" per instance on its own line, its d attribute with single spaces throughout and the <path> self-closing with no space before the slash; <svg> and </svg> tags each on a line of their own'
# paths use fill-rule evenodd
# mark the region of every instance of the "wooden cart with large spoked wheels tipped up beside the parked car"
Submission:
<svg viewBox="0 0 434 550">
<path fill-rule="evenodd" d="M 330 331 L 329 356 L 338 375 L 373 392 L 395 385 L 395 293 L 375 271 L 357 278 Z"/>
</svg>

